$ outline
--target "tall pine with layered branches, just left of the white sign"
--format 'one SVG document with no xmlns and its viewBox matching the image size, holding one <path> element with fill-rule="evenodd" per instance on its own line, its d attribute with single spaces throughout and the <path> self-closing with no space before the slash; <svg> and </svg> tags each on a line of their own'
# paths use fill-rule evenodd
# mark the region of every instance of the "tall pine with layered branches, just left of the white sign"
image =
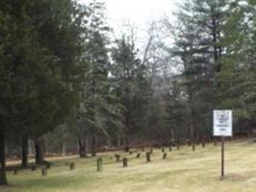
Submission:
<svg viewBox="0 0 256 192">
<path fill-rule="evenodd" d="M 171 54 L 183 70 L 173 78 L 171 91 L 178 94 L 172 93 L 174 101 L 169 102 L 167 114 L 173 118 L 174 128 L 187 128 L 192 143 L 196 137 L 211 133 L 212 110 L 218 108 L 217 74 L 224 55 L 220 40 L 227 5 L 227 1 L 186 1 L 177 13 Z M 175 130 L 184 132 L 181 128 Z"/>
</svg>

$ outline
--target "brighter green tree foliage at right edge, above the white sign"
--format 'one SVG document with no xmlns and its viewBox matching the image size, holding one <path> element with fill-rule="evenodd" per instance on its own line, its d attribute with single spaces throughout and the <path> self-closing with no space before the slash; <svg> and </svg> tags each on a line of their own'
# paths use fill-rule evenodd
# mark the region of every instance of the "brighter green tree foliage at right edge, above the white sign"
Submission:
<svg viewBox="0 0 256 192">
<path fill-rule="evenodd" d="M 254 5 L 254 1 L 248 1 L 248 4 L 236 1 L 230 5 L 223 28 L 225 36 L 221 41 L 227 47 L 227 54 L 220 60 L 219 106 L 233 108 L 235 121 L 243 127 L 244 123 L 253 126 L 256 114 Z"/>
</svg>

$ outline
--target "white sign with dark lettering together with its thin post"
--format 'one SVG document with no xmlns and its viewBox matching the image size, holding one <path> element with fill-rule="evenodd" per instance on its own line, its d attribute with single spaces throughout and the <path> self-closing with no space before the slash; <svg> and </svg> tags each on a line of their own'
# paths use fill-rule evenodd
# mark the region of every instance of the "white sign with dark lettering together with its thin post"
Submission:
<svg viewBox="0 0 256 192">
<path fill-rule="evenodd" d="M 232 136 L 232 110 L 214 110 L 214 135 L 221 136 L 221 179 L 223 179 L 225 136 Z"/>
</svg>

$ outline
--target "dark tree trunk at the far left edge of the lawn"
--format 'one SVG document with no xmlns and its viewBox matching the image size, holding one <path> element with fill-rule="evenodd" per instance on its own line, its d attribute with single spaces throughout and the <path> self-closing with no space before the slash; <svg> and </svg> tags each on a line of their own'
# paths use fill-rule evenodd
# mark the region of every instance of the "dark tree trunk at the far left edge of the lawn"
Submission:
<svg viewBox="0 0 256 192">
<path fill-rule="evenodd" d="M 6 178 L 6 153 L 5 153 L 5 130 L 0 128 L 0 186 L 7 185 Z"/>
</svg>

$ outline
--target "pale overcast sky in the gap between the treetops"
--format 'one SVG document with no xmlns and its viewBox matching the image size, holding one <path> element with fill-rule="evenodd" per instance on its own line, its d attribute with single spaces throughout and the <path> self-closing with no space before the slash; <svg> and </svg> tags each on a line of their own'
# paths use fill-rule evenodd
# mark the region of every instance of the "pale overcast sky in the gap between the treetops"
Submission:
<svg viewBox="0 0 256 192">
<path fill-rule="evenodd" d="M 176 4 L 181 0 L 102 0 L 106 3 L 108 23 L 115 30 L 116 36 L 122 31 L 124 24 L 131 24 L 139 29 L 139 35 L 147 29 L 152 20 L 168 15 L 175 20 L 172 12 L 177 10 Z M 88 4 L 92 0 L 80 0 Z"/>
</svg>

